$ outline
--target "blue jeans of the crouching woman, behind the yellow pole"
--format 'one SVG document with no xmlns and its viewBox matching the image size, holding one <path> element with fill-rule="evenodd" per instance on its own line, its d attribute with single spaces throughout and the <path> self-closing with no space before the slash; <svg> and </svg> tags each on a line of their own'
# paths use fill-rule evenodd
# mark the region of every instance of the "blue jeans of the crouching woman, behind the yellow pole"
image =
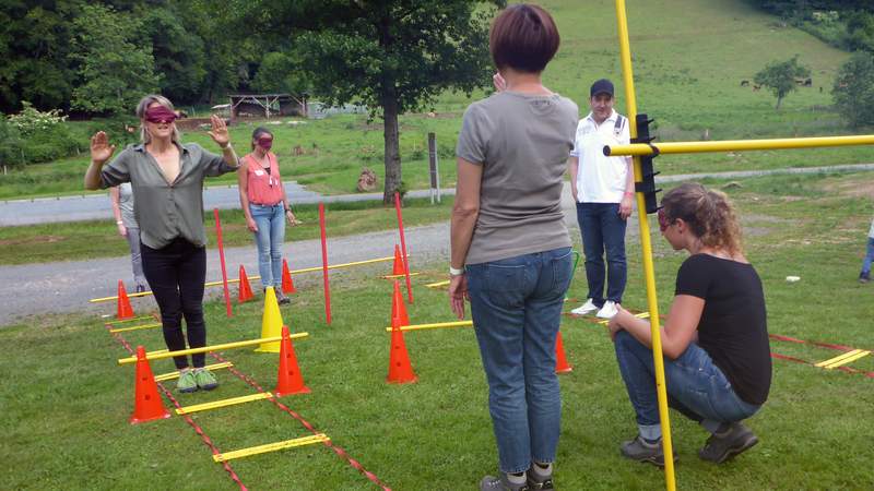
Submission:
<svg viewBox="0 0 874 491">
<path fill-rule="evenodd" d="M 637 415 L 640 435 L 657 440 L 661 438 L 662 430 L 652 350 L 626 331 L 616 333 L 615 349 L 619 372 Z M 665 357 L 664 376 L 669 406 L 698 421 L 711 433 L 720 423 L 749 418 L 761 407 L 737 397 L 710 355 L 694 343 L 676 360 Z"/>
</svg>

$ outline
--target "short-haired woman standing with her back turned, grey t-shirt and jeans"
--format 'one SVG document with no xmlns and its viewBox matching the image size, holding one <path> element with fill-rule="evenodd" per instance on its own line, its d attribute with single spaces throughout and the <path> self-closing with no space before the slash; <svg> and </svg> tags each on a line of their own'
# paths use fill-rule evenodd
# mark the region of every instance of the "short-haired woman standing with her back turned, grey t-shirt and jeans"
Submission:
<svg viewBox="0 0 874 491">
<path fill-rule="evenodd" d="M 558 50 L 550 14 L 530 4 L 495 19 L 489 50 L 499 92 L 464 112 L 456 149 L 450 306 L 464 300 L 488 382 L 499 472 L 484 491 L 553 489 L 562 400 L 555 343 L 570 280 L 560 206 L 578 109 L 543 86 Z"/>
</svg>

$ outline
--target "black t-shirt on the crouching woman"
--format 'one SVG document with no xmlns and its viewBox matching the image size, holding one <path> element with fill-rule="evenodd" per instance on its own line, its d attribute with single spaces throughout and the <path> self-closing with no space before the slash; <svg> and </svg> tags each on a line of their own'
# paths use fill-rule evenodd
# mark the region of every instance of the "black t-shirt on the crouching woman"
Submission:
<svg viewBox="0 0 874 491">
<path fill-rule="evenodd" d="M 739 397 L 764 404 L 771 386 L 771 357 L 765 294 L 756 270 L 751 264 L 695 254 L 680 266 L 675 295 L 704 299 L 698 346 L 710 355 Z"/>
</svg>

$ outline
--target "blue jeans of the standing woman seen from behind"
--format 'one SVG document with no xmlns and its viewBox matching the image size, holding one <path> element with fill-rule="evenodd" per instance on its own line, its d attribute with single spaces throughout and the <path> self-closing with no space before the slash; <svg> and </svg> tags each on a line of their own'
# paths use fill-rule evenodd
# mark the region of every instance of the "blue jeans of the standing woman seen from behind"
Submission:
<svg viewBox="0 0 874 491">
<path fill-rule="evenodd" d="M 571 270 L 570 248 L 466 266 L 504 472 L 555 460 L 562 422 L 555 342 Z"/>
</svg>

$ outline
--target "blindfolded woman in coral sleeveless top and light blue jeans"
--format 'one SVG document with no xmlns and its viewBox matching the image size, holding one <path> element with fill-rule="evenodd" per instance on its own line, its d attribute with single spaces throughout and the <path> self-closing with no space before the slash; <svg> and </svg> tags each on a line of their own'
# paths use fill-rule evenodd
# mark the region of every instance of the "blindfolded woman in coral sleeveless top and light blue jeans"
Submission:
<svg viewBox="0 0 874 491">
<path fill-rule="evenodd" d="M 252 132 L 252 152 L 240 159 L 239 204 L 246 215 L 246 226 L 255 235 L 258 247 L 258 270 L 264 290 L 273 288 L 280 303 L 290 303 L 282 294 L 282 243 L 285 241 L 285 219 L 295 226 L 299 221 L 292 213 L 280 166 L 273 147 L 273 133 L 265 128 Z"/>
</svg>

